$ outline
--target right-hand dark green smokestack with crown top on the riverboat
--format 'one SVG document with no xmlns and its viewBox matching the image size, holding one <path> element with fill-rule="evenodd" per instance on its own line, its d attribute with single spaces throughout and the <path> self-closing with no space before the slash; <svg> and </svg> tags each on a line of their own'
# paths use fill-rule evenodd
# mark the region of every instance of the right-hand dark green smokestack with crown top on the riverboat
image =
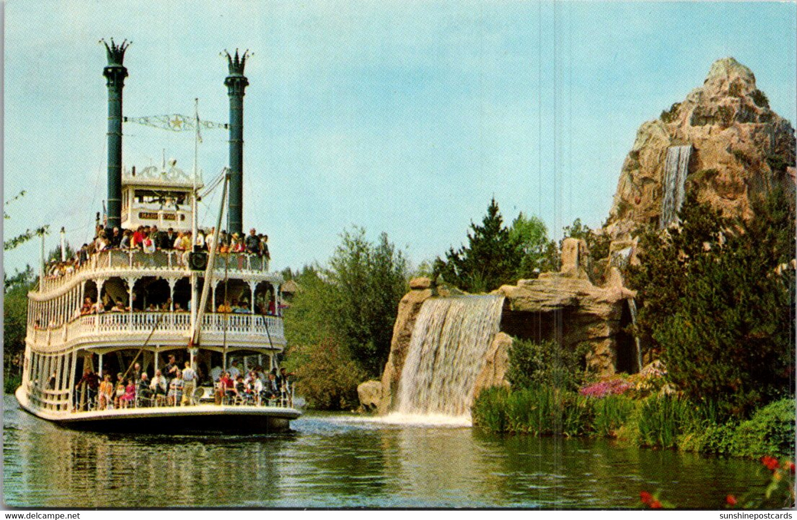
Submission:
<svg viewBox="0 0 797 520">
<path fill-rule="evenodd" d="M 243 170 L 244 170 L 244 90 L 249 80 L 244 76 L 244 66 L 249 51 L 235 56 L 225 51 L 229 75 L 224 80 L 230 96 L 230 219 L 228 232 L 243 232 Z"/>
</svg>

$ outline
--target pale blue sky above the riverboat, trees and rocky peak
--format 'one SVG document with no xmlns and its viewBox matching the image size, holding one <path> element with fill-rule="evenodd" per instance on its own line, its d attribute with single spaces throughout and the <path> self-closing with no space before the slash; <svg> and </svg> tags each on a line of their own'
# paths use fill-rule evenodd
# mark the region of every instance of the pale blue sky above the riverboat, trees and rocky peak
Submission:
<svg viewBox="0 0 797 520">
<path fill-rule="evenodd" d="M 128 116 L 225 122 L 222 49 L 250 49 L 244 223 L 273 266 L 324 262 L 344 228 L 380 232 L 417 264 L 457 247 L 493 195 L 549 233 L 606 219 L 642 122 L 732 56 L 795 121 L 795 3 L 30 2 L 5 6 L 6 236 L 91 238 L 105 197 L 100 37 L 133 41 Z M 125 124 L 124 163 L 190 170 L 193 140 Z M 206 179 L 227 163 L 207 131 Z M 201 220 L 210 226 L 218 195 Z M 57 245 L 48 238 L 48 249 Z M 37 244 L 4 255 L 37 262 Z"/>
</svg>

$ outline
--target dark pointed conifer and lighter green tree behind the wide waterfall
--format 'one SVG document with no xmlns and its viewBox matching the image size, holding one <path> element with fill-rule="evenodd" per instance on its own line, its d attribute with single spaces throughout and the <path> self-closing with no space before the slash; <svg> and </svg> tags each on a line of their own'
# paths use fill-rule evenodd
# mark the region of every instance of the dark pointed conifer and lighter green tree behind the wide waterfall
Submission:
<svg viewBox="0 0 797 520">
<path fill-rule="evenodd" d="M 495 199 L 481 225 L 470 224 L 468 245 L 452 247 L 445 260 L 438 257 L 434 262 L 435 278 L 470 293 L 536 278 L 543 270 L 556 270 L 556 243 L 548 240 L 542 220 L 521 212 L 512 227 L 506 227 Z"/>
</svg>

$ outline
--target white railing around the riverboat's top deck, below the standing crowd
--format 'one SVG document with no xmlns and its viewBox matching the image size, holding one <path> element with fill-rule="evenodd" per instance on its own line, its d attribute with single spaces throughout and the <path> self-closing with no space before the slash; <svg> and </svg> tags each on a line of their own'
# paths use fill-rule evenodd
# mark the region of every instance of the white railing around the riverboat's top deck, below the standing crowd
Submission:
<svg viewBox="0 0 797 520">
<path fill-rule="evenodd" d="M 42 289 L 52 290 L 69 282 L 75 274 L 90 268 L 92 270 L 185 270 L 187 252 L 182 250 L 156 250 L 145 253 L 142 250 L 103 250 L 92 254 L 87 262 L 73 267 L 67 274 L 45 277 Z M 217 270 L 268 272 L 269 259 L 259 254 L 224 253 L 216 257 Z"/>
</svg>

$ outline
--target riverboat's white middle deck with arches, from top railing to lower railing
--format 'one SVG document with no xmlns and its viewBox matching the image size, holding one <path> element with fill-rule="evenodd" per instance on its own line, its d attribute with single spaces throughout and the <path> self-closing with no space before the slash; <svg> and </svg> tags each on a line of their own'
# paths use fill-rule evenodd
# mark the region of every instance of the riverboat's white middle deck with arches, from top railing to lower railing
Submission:
<svg viewBox="0 0 797 520">
<path fill-rule="evenodd" d="M 182 250 L 102 250 L 69 272 L 45 277 L 41 290 L 29 293 L 28 344 L 40 353 L 118 349 L 147 339 L 163 347 L 186 345 L 190 309 L 205 276 L 190 270 L 186 259 Z M 205 348 L 284 349 L 283 278 L 268 267 L 264 255 L 215 255 L 198 324 Z"/>
</svg>

